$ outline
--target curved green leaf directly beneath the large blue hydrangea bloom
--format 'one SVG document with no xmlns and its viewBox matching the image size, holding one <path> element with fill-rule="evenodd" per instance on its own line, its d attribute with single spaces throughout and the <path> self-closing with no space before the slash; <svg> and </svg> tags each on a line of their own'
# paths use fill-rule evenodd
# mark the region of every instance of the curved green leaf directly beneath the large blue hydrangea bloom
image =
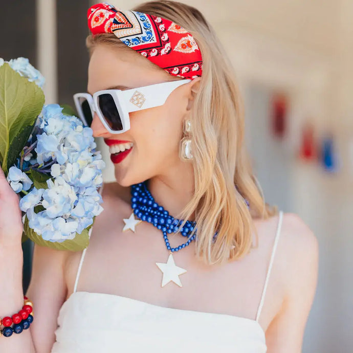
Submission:
<svg viewBox="0 0 353 353">
<path fill-rule="evenodd" d="M 44 240 L 40 235 L 38 235 L 32 228 L 28 225 L 28 218 L 26 216 L 24 230 L 26 235 L 35 244 L 40 246 L 48 247 L 56 250 L 69 250 L 69 251 L 81 251 L 89 245 L 89 232 L 84 229 L 81 234 L 77 234 L 74 239 L 64 240 L 63 242 Z"/>
</svg>

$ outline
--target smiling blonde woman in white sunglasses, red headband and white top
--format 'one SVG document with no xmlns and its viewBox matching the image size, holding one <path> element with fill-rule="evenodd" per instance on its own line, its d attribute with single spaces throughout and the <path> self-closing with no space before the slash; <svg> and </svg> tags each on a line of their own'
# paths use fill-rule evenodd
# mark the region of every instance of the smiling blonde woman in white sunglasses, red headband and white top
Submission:
<svg viewBox="0 0 353 353">
<path fill-rule="evenodd" d="M 117 183 L 101 189 L 87 251 L 35 246 L 35 320 L 0 350 L 298 353 L 317 239 L 264 203 L 231 65 L 203 15 L 169 1 L 134 11 L 89 9 L 89 94 L 75 95 Z M 7 315 L 23 301 L 22 225 L 3 174 L 0 185 Z"/>
</svg>

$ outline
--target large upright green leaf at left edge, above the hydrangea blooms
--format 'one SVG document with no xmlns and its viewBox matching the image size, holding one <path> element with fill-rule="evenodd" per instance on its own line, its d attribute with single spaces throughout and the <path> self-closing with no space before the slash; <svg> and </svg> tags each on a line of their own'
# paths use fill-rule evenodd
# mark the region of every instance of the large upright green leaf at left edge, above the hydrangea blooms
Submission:
<svg viewBox="0 0 353 353">
<path fill-rule="evenodd" d="M 0 162 L 5 174 L 10 146 L 17 135 L 28 133 L 23 129 L 35 123 L 43 104 L 44 94 L 40 87 L 12 70 L 7 62 L 0 67 Z M 17 142 L 23 141 L 24 136 Z"/>
</svg>

